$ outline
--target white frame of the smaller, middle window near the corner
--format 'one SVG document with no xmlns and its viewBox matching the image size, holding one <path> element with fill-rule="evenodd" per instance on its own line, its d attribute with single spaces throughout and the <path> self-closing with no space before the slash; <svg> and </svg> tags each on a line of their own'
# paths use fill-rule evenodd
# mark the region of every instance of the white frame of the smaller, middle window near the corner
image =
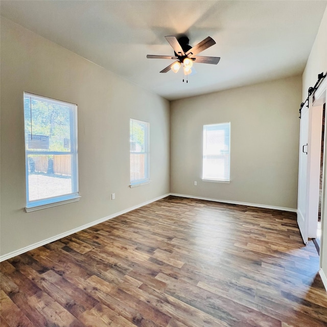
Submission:
<svg viewBox="0 0 327 327">
<path fill-rule="evenodd" d="M 133 141 L 133 136 L 132 135 L 132 131 L 131 131 L 131 126 L 132 126 L 132 123 L 133 122 L 136 122 L 138 124 L 142 124 L 146 131 L 145 131 L 145 144 L 144 144 L 144 151 L 143 152 L 135 152 L 132 150 L 132 145 L 131 145 L 131 142 L 134 142 Z M 134 118 L 130 118 L 130 121 L 129 121 L 129 126 L 130 126 L 130 130 L 129 130 L 129 133 L 130 133 L 130 184 L 129 184 L 129 187 L 130 188 L 135 188 L 136 186 L 141 186 L 141 185 L 145 185 L 145 184 L 149 184 L 150 183 L 150 123 L 149 122 L 145 122 L 145 121 L 141 121 L 141 120 L 137 120 L 137 119 L 134 119 Z M 132 180 L 132 165 L 131 165 L 131 158 L 132 158 L 132 155 L 135 155 L 135 154 L 140 154 L 140 155 L 145 155 L 145 160 L 144 160 L 144 178 L 141 178 L 141 179 L 134 179 Z"/>
</svg>

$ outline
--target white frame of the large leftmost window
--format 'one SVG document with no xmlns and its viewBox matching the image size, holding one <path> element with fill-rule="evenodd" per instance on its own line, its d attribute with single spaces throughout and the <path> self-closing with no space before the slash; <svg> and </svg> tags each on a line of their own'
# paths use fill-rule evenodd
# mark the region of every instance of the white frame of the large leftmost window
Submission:
<svg viewBox="0 0 327 327">
<path fill-rule="evenodd" d="M 36 211 L 39 209 L 43 208 L 48 208 L 56 205 L 61 205 L 65 203 L 70 203 L 70 202 L 75 202 L 80 199 L 79 196 L 79 189 L 78 189 L 78 139 L 77 139 L 77 105 L 72 104 L 72 103 L 67 103 L 64 101 L 59 101 L 51 98 L 46 98 L 34 94 L 30 94 L 28 92 L 24 92 L 24 118 L 26 120 L 26 110 L 28 108 L 25 107 L 25 100 L 26 98 L 30 98 L 30 101 L 32 99 L 36 99 L 39 101 L 44 101 L 46 103 L 50 104 L 55 104 L 55 105 L 61 105 L 69 108 L 73 115 L 73 119 L 71 121 L 71 128 L 70 128 L 70 151 L 35 151 L 28 149 L 28 140 L 27 140 L 27 135 L 28 133 L 33 133 L 32 131 L 27 131 L 26 130 L 26 123 L 24 125 L 24 130 L 25 130 L 25 167 L 26 167 L 26 207 L 25 211 L 26 212 L 31 212 L 31 211 Z M 29 109 L 32 112 L 32 107 Z M 31 123 L 31 129 L 32 129 L 32 123 Z M 49 198 L 40 198 L 37 200 L 31 200 L 29 199 L 30 197 L 30 192 L 29 192 L 29 163 L 28 163 L 28 155 L 34 154 L 34 155 L 72 155 L 72 192 L 69 194 L 65 195 L 59 195 L 59 196 L 52 196 Z"/>
</svg>

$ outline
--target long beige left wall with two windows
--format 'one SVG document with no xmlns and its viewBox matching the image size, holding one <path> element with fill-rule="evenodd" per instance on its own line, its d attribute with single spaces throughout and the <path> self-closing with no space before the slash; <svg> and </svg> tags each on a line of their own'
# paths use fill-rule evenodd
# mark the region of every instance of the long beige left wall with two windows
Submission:
<svg viewBox="0 0 327 327">
<path fill-rule="evenodd" d="M 168 101 L 5 18 L 1 91 L 1 255 L 169 193 Z M 24 211 L 24 91 L 78 105 L 79 202 Z M 151 183 L 133 189 L 130 118 L 150 122 L 151 140 Z"/>
</svg>

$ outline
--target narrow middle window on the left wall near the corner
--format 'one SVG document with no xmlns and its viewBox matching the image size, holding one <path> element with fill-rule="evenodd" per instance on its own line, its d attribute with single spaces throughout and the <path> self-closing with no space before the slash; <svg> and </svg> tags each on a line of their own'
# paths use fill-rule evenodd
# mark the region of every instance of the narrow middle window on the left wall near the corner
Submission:
<svg viewBox="0 0 327 327">
<path fill-rule="evenodd" d="M 149 123 L 130 119 L 130 186 L 149 182 Z"/>
</svg>

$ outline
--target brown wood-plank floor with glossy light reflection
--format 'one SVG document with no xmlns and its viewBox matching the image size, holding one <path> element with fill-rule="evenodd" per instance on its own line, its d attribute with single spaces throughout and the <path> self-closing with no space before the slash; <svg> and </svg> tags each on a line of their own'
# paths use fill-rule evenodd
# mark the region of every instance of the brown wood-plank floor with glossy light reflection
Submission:
<svg viewBox="0 0 327 327">
<path fill-rule="evenodd" d="M 294 213 L 167 197 L 1 264 L 1 326 L 327 326 Z"/>
</svg>

